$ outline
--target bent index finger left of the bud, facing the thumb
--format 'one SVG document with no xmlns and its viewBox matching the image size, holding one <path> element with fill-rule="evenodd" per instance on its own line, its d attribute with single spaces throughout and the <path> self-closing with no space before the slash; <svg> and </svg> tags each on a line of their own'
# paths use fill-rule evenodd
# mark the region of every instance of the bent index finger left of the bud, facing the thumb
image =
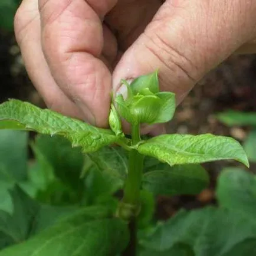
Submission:
<svg viewBox="0 0 256 256">
<path fill-rule="evenodd" d="M 116 0 L 39 0 L 41 42 L 52 77 L 97 126 L 107 125 L 111 74 L 99 59 L 101 18 Z"/>
</svg>

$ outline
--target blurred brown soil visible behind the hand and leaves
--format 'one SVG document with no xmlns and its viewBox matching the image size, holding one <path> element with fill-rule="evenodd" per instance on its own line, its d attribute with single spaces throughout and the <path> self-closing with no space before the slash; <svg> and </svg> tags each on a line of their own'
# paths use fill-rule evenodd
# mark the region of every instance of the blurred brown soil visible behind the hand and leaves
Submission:
<svg viewBox="0 0 256 256">
<path fill-rule="evenodd" d="M 13 35 L 1 31 L 0 80 L 0 102 L 15 98 L 44 106 L 27 77 Z M 229 128 L 215 119 L 216 113 L 228 109 L 256 111 L 256 55 L 232 56 L 211 71 L 180 104 L 168 130 L 171 133 L 232 136 L 242 142 L 250 130 L 248 127 Z M 215 204 L 216 178 L 230 164 L 215 162 L 204 165 L 211 175 L 211 185 L 198 196 L 160 196 L 157 200 L 157 216 L 166 219 L 180 208 L 192 209 Z M 256 173 L 256 165 L 252 165 L 250 171 Z"/>
</svg>

